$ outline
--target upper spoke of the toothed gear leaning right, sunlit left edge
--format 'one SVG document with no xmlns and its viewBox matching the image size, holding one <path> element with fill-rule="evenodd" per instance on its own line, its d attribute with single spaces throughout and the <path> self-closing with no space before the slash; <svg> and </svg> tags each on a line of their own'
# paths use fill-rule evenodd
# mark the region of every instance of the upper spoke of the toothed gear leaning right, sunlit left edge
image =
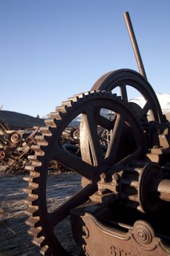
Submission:
<svg viewBox="0 0 170 256">
<path fill-rule="evenodd" d="M 107 148 L 106 157 L 105 157 L 105 159 L 107 159 L 107 161 L 109 162 L 112 162 L 112 164 L 115 163 L 115 158 L 117 156 L 117 148 L 120 143 L 124 121 L 125 121 L 124 116 L 117 115 L 115 126 L 112 130 L 111 139 L 110 139 L 109 146 Z"/>
</svg>

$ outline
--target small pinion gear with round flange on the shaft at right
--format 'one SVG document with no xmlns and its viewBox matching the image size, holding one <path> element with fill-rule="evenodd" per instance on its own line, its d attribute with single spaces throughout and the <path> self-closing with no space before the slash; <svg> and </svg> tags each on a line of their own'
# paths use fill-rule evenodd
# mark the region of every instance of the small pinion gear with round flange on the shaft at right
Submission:
<svg viewBox="0 0 170 256">
<path fill-rule="evenodd" d="M 164 178 L 160 165 L 155 162 L 131 162 L 120 179 L 120 197 L 139 211 L 157 211 L 161 200 L 152 189 L 152 183 L 156 184 L 155 178 Z"/>
</svg>

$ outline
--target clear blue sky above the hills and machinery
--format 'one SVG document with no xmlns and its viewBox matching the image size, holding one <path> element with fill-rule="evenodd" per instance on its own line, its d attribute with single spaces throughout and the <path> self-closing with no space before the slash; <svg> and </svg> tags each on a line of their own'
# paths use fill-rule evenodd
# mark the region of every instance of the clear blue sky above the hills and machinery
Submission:
<svg viewBox="0 0 170 256">
<path fill-rule="evenodd" d="M 105 72 L 138 71 L 125 11 L 147 79 L 170 93 L 170 0 L 0 0 L 3 109 L 45 116 Z"/>
</svg>

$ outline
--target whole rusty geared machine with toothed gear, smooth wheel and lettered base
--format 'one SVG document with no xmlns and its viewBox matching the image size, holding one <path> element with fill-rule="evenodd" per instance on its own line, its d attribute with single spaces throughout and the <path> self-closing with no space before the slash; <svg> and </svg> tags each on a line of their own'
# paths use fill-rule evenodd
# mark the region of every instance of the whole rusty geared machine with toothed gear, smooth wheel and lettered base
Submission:
<svg viewBox="0 0 170 256">
<path fill-rule="evenodd" d="M 129 86 L 144 97 L 143 108 L 128 101 Z M 112 94 L 116 88 L 119 96 Z M 61 143 L 77 116 L 79 155 Z M 45 124 L 31 146 L 35 154 L 29 156 L 24 189 L 28 233 L 42 255 L 71 255 L 54 233 L 68 216 L 80 255 L 170 255 L 170 124 L 144 75 L 131 69 L 109 72 L 91 91 L 62 102 Z M 105 145 L 101 130 L 107 131 Z M 82 189 L 49 212 L 52 159 L 80 173 Z"/>
</svg>

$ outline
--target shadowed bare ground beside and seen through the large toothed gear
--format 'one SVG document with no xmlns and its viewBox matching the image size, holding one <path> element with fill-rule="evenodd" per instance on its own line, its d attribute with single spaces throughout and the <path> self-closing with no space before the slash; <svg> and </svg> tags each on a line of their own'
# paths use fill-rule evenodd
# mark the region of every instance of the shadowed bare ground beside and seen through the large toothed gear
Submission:
<svg viewBox="0 0 170 256">
<path fill-rule="evenodd" d="M 31 243 L 23 203 L 26 187 L 23 175 L 0 175 L 0 256 L 37 256 L 39 248 Z M 53 211 L 63 200 L 80 189 L 80 176 L 74 173 L 50 174 L 47 178 L 47 206 Z M 69 217 L 57 226 L 56 233 L 63 246 L 73 255 L 79 255 L 77 245 L 72 241 Z"/>
</svg>

